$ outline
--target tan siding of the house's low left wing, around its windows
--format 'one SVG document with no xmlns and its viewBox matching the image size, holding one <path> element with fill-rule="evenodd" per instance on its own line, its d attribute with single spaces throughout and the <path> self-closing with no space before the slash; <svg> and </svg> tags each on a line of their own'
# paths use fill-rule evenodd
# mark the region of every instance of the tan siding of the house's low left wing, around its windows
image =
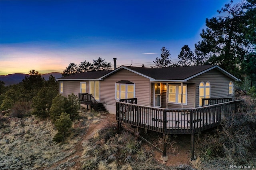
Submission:
<svg viewBox="0 0 256 170">
<path fill-rule="evenodd" d="M 60 94 L 65 97 L 68 97 L 68 95 L 71 95 L 72 93 L 74 93 L 78 97 L 78 93 L 80 93 L 80 83 L 84 83 L 84 82 L 86 83 L 86 93 L 90 92 L 89 81 L 64 80 L 59 82 L 63 82 L 63 93 L 60 93 Z"/>
</svg>

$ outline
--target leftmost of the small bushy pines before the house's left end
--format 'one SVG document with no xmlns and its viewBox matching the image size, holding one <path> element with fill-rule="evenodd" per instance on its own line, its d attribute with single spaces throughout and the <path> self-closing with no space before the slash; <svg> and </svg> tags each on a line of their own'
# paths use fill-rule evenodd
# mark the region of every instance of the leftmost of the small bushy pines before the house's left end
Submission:
<svg viewBox="0 0 256 170">
<path fill-rule="evenodd" d="M 57 96 L 58 92 L 52 87 L 43 87 L 33 98 L 32 115 L 37 117 L 46 118 L 50 117 L 50 108 L 52 106 L 52 100 Z"/>
</svg>

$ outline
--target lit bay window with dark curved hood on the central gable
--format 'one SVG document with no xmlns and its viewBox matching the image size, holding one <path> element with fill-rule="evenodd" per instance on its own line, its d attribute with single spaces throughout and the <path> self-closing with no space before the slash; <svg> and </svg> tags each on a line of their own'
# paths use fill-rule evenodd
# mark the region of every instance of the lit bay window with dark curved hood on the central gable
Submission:
<svg viewBox="0 0 256 170">
<path fill-rule="evenodd" d="M 116 99 L 131 99 L 134 97 L 134 83 L 124 80 L 116 83 Z"/>
</svg>

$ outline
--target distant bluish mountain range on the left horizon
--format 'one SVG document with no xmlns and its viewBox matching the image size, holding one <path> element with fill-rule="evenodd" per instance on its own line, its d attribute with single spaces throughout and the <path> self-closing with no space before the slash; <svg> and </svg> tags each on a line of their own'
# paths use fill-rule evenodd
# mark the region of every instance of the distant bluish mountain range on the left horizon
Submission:
<svg viewBox="0 0 256 170">
<path fill-rule="evenodd" d="M 22 74 L 22 73 L 0 75 L 0 80 L 4 81 L 6 86 L 14 85 L 14 84 L 18 84 L 18 83 L 22 82 L 22 80 L 25 79 L 26 75 L 29 76 L 29 74 Z M 44 77 L 45 80 L 49 80 L 50 75 L 53 75 L 55 77 L 55 79 L 62 77 L 61 73 L 57 73 L 57 72 L 41 74 L 41 76 Z"/>
</svg>

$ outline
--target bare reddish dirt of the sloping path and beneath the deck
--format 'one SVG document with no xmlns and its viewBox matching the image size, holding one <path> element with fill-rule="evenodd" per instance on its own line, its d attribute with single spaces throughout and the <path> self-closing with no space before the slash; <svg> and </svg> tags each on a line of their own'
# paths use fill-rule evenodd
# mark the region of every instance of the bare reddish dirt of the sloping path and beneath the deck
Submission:
<svg viewBox="0 0 256 170">
<path fill-rule="evenodd" d="M 116 122 L 116 115 L 113 114 L 103 114 L 102 116 L 100 116 L 98 119 L 98 123 L 92 123 L 89 124 L 89 128 L 86 129 L 86 133 L 84 134 L 84 136 L 82 137 L 82 139 L 80 140 L 80 142 L 78 142 L 74 148 L 72 148 L 72 150 L 70 150 L 69 152 L 74 152 L 74 154 L 71 154 L 69 157 L 64 158 L 63 160 L 56 162 L 55 164 L 52 164 L 52 166 L 47 167 L 47 168 L 41 168 L 41 170 L 54 170 L 56 169 L 56 167 L 64 162 L 67 162 L 68 160 L 72 159 L 72 161 L 76 162 L 75 166 L 72 167 L 72 170 L 80 170 L 80 167 L 82 166 L 81 162 L 81 157 L 82 157 L 82 152 L 83 152 L 83 142 L 92 138 L 94 135 L 94 132 L 96 130 L 100 130 L 104 127 L 109 127 L 109 126 L 113 126 L 113 125 L 117 125 Z M 81 126 L 80 123 L 76 124 L 76 127 Z M 74 127 L 74 128 L 76 128 Z M 143 131 L 143 130 L 142 130 Z M 141 136 L 144 136 L 145 138 L 147 138 L 147 140 L 150 139 L 150 137 L 154 136 L 156 137 L 156 133 L 151 133 L 151 132 L 141 132 Z M 157 136 L 157 138 L 159 138 L 159 140 L 161 140 L 160 136 Z M 171 137 L 172 138 L 172 137 Z M 158 162 L 160 164 L 166 164 L 166 166 L 178 166 L 180 164 L 184 164 L 184 165 L 191 165 L 190 163 L 190 145 L 187 145 L 187 142 L 190 143 L 190 141 L 186 141 L 189 140 L 189 138 L 187 137 L 180 137 L 179 136 L 177 138 L 177 142 L 175 142 L 172 146 L 168 147 L 167 146 L 167 156 L 169 158 L 168 161 L 163 162 L 162 160 L 160 160 L 161 156 L 162 156 L 162 152 L 159 152 L 158 150 L 154 149 L 154 158 L 156 160 L 158 160 Z M 184 142 L 185 141 L 185 144 Z M 175 146 L 174 146 L 175 145 Z M 146 142 L 142 142 L 142 147 L 146 148 L 146 150 L 150 150 L 152 149 L 152 146 L 150 146 L 148 143 Z M 159 144 L 159 146 L 157 146 L 158 148 L 162 149 L 163 146 L 161 146 L 161 144 Z"/>
</svg>

